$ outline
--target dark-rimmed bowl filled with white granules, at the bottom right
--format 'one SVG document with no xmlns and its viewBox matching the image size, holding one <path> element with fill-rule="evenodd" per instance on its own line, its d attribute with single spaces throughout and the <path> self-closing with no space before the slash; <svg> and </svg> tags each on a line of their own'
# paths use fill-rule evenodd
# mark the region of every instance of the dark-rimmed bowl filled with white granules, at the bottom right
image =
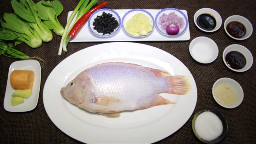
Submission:
<svg viewBox="0 0 256 144">
<path fill-rule="evenodd" d="M 220 111 L 204 108 L 192 119 L 192 129 L 196 137 L 204 143 L 220 143 L 228 133 L 226 118 Z"/>
</svg>

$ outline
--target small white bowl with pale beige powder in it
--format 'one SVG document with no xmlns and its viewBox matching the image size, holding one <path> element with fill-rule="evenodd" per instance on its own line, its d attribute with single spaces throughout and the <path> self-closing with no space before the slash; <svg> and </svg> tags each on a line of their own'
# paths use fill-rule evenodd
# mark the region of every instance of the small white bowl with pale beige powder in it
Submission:
<svg viewBox="0 0 256 144">
<path fill-rule="evenodd" d="M 213 84 L 212 96 L 220 106 L 236 108 L 244 99 L 244 91 L 235 80 L 223 77 Z"/>
</svg>

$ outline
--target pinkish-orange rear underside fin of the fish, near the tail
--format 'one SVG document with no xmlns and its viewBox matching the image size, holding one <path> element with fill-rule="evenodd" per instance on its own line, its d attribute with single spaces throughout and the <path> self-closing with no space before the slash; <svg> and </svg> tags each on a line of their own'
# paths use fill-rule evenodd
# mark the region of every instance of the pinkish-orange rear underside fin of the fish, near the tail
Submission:
<svg viewBox="0 0 256 144">
<path fill-rule="evenodd" d="M 154 106 L 167 105 L 167 104 L 175 104 L 175 102 L 164 99 L 163 97 L 158 95 L 154 100 L 152 100 L 151 102 L 147 103 L 146 105 L 140 107 L 139 109 L 151 108 L 151 107 L 154 107 Z"/>
</svg>

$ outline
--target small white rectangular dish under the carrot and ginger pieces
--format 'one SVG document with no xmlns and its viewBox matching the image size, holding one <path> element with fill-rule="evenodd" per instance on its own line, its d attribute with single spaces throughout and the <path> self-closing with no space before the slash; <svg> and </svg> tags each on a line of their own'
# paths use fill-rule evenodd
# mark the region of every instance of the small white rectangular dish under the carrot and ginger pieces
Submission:
<svg viewBox="0 0 256 144">
<path fill-rule="evenodd" d="M 12 106 L 11 104 L 12 93 L 15 92 L 15 89 L 12 88 L 12 85 L 10 83 L 10 76 L 12 71 L 14 70 L 32 70 L 35 74 L 31 95 L 28 99 L 24 98 L 24 103 L 17 106 Z M 20 60 L 13 62 L 9 68 L 8 73 L 8 79 L 4 96 L 4 109 L 9 112 L 25 112 L 36 108 L 39 98 L 40 84 L 41 66 L 37 60 Z"/>
</svg>

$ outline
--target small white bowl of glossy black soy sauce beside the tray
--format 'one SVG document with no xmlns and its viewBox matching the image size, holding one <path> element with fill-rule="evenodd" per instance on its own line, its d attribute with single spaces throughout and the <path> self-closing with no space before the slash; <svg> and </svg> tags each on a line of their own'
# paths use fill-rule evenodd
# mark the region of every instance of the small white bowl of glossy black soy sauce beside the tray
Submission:
<svg viewBox="0 0 256 144">
<path fill-rule="evenodd" d="M 196 27 L 205 32 L 214 32 L 222 24 L 220 14 L 210 8 L 199 9 L 194 15 Z"/>
</svg>

